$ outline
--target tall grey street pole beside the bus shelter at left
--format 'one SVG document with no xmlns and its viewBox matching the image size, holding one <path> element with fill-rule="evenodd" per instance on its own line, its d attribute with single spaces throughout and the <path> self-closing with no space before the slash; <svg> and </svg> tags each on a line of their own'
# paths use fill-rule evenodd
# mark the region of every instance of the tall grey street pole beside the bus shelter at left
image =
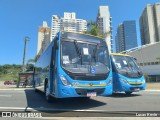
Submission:
<svg viewBox="0 0 160 120">
<path fill-rule="evenodd" d="M 27 41 L 29 41 L 29 37 L 25 36 L 24 38 L 24 53 L 23 53 L 23 66 L 22 66 L 22 72 L 25 72 L 25 58 L 26 58 L 26 45 L 27 45 Z"/>
</svg>

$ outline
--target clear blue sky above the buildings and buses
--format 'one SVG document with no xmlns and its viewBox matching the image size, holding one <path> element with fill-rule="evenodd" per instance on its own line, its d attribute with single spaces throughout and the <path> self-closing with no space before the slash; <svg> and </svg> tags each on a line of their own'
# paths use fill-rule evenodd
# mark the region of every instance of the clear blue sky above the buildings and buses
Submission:
<svg viewBox="0 0 160 120">
<path fill-rule="evenodd" d="M 139 17 L 147 4 L 159 0 L 0 0 L 0 65 L 22 64 L 24 38 L 27 42 L 26 61 L 37 51 L 38 27 L 52 15 L 76 12 L 76 17 L 95 21 L 99 6 L 108 5 L 112 17 L 113 40 L 117 27 L 124 20 L 135 20 L 140 45 Z"/>
</svg>

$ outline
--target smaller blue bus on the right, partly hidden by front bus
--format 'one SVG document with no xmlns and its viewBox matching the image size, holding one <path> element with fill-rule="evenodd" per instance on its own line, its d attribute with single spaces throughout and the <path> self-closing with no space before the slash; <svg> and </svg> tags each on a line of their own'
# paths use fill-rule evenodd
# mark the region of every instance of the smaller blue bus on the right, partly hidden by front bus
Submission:
<svg viewBox="0 0 160 120">
<path fill-rule="evenodd" d="M 145 90 L 145 78 L 135 58 L 127 54 L 111 53 L 113 92 L 131 94 Z"/>
</svg>

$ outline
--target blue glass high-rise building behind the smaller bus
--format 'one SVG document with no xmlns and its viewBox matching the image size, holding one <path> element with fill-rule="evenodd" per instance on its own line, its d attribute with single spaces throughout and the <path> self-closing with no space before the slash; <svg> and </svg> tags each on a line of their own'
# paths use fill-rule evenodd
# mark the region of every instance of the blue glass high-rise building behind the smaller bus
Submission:
<svg viewBox="0 0 160 120">
<path fill-rule="evenodd" d="M 124 21 L 118 26 L 115 38 L 116 52 L 122 52 L 137 47 L 136 22 Z"/>
</svg>

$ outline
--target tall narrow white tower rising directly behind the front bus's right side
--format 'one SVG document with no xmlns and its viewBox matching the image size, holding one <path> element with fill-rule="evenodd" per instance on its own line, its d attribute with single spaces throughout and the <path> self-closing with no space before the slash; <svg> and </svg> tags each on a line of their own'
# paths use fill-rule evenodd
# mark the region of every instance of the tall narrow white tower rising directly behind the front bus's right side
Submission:
<svg viewBox="0 0 160 120">
<path fill-rule="evenodd" d="M 100 35 L 105 36 L 106 43 L 108 45 L 109 52 L 113 52 L 113 40 L 112 40 L 112 27 L 111 17 L 108 6 L 100 6 L 97 15 L 97 26 Z"/>
</svg>

